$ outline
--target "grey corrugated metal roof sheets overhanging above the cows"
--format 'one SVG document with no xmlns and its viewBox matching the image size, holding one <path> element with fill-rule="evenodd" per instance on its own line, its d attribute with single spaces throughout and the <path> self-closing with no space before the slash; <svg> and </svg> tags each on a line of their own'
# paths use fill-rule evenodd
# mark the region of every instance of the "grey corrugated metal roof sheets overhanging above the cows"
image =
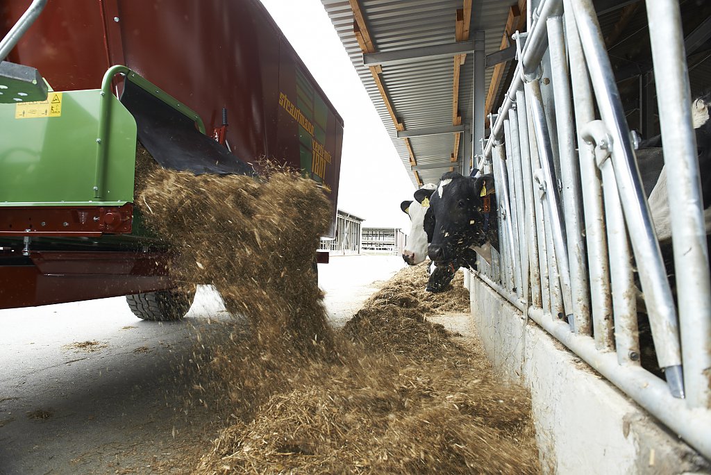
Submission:
<svg viewBox="0 0 711 475">
<path fill-rule="evenodd" d="M 415 174 L 410 171 L 410 154 L 404 139 L 397 138 L 397 130 L 387 111 L 373 75 L 363 65 L 363 51 L 353 33 L 353 11 L 348 0 L 321 0 L 341 43 L 365 85 L 380 119 L 385 124 L 403 166 L 409 172 L 412 183 L 417 185 Z M 436 46 L 456 41 L 456 10 L 463 8 L 462 0 L 359 0 L 360 11 L 368 26 L 378 53 Z M 516 1 L 474 0 L 469 39 L 474 31 L 485 32 L 486 54 L 501 47 L 501 37 L 506 26 L 510 6 Z M 473 64 L 470 53 L 461 66 L 459 80 L 459 112 L 462 124 L 471 124 L 471 109 L 474 99 Z M 492 68 L 486 70 L 488 90 Z M 398 65 L 383 65 L 381 75 L 397 117 L 405 129 L 424 127 L 451 127 L 452 93 L 454 81 L 454 57 L 417 60 Z M 439 164 L 449 161 L 454 152 L 454 134 L 430 135 L 410 139 L 417 165 Z M 463 143 L 459 146 L 459 159 L 464 155 Z M 439 181 L 444 169 L 420 170 L 424 183 Z"/>
</svg>

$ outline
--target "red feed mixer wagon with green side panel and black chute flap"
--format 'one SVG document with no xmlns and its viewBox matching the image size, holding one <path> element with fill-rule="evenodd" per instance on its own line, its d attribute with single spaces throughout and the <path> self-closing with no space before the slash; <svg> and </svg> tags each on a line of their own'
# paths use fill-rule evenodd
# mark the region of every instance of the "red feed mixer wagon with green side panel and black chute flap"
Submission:
<svg viewBox="0 0 711 475">
<path fill-rule="evenodd" d="M 137 142 L 161 166 L 322 184 L 335 233 L 343 119 L 258 0 L 0 0 L 0 308 L 193 295 L 134 208 Z"/>
</svg>

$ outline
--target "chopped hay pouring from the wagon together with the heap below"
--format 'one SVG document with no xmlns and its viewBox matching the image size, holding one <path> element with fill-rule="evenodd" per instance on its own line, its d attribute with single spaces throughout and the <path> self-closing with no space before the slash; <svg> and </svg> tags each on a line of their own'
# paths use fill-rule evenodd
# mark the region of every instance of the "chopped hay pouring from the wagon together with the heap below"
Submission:
<svg viewBox="0 0 711 475">
<path fill-rule="evenodd" d="M 137 205 L 182 285 L 214 284 L 232 321 L 198 336 L 186 400 L 225 417 L 194 474 L 540 472 L 528 393 L 427 316 L 467 311 L 461 283 L 427 294 L 405 269 L 342 331 L 311 270 L 330 218 L 313 181 L 267 167 L 193 176 L 143 166 Z M 189 366 L 189 367 L 188 367 Z M 208 393 L 211 397 L 208 397 Z M 188 457 L 188 456 L 186 456 Z"/>
</svg>

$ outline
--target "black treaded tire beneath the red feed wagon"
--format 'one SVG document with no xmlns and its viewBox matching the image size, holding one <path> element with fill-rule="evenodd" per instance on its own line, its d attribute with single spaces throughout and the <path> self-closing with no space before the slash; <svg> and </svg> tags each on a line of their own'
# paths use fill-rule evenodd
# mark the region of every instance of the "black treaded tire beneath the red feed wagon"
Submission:
<svg viewBox="0 0 711 475">
<path fill-rule="evenodd" d="M 195 299 L 192 291 L 160 290 L 126 296 L 129 309 L 135 316 L 149 321 L 177 321 L 188 313 Z"/>
</svg>

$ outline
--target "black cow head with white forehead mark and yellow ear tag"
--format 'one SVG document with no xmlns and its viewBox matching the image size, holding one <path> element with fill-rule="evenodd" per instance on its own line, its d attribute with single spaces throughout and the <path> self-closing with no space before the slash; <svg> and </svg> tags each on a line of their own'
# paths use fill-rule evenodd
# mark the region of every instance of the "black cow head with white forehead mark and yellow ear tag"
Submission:
<svg viewBox="0 0 711 475">
<path fill-rule="evenodd" d="M 425 229 L 432 233 L 427 254 L 437 265 L 454 262 L 472 248 L 491 242 L 496 233 L 496 204 L 490 197 L 487 229 L 484 196 L 493 192 L 493 175 L 476 178 L 456 172 L 442 175 L 430 200 L 431 219 L 425 220 Z M 491 244 L 498 247 L 498 240 Z"/>
</svg>

